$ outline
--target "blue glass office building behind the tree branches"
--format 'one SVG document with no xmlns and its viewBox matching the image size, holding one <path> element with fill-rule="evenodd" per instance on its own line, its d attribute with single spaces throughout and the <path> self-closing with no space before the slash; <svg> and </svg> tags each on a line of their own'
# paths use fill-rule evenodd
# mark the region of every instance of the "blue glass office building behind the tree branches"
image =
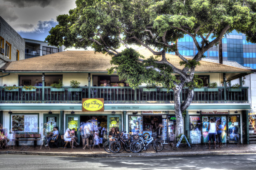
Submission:
<svg viewBox="0 0 256 170">
<path fill-rule="evenodd" d="M 210 36 L 209 41 L 212 40 Z M 197 41 L 200 43 L 202 39 L 197 37 Z M 182 55 L 195 56 L 198 53 L 195 43 L 189 35 L 179 39 L 177 45 Z M 245 34 L 232 31 L 232 33 L 225 35 L 222 39 L 222 48 L 223 60 L 236 61 L 243 66 L 256 69 L 256 44 L 247 42 Z M 204 55 L 208 58 L 218 59 L 218 46 L 214 45 Z"/>
</svg>

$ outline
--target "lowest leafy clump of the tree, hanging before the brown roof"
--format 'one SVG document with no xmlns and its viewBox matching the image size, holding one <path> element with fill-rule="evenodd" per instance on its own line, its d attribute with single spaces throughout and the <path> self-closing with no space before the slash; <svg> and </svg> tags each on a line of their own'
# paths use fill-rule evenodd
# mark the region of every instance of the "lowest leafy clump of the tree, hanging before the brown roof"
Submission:
<svg viewBox="0 0 256 170">
<path fill-rule="evenodd" d="M 116 70 L 119 79 L 125 79 L 131 88 L 137 88 L 142 83 L 146 83 L 150 87 L 162 86 L 171 89 L 175 88 L 174 82 L 180 82 L 171 74 L 172 68 L 170 66 L 154 62 L 157 57 L 150 57 L 144 62 L 140 62 L 138 59 L 142 58 L 144 57 L 134 49 L 125 49 L 119 55 L 112 57 L 111 64 L 115 66 L 108 70 L 108 74 L 113 74 L 113 71 Z M 148 66 L 159 68 L 160 74 L 152 68 L 146 68 Z"/>
</svg>

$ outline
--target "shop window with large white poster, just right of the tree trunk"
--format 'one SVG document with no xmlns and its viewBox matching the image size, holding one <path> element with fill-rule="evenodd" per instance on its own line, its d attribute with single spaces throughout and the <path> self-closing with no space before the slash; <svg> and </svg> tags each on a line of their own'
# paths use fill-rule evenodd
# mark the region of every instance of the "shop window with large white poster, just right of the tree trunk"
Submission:
<svg viewBox="0 0 256 170">
<path fill-rule="evenodd" d="M 201 118 L 200 116 L 189 116 L 190 138 L 191 138 L 192 144 L 201 144 L 201 119 L 200 118 Z"/>
</svg>

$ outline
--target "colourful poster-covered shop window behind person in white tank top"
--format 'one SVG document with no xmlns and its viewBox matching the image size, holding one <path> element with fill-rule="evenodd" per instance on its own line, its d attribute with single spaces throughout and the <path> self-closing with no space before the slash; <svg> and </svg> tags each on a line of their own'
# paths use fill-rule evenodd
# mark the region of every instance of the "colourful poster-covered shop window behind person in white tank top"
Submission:
<svg viewBox="0 0 256 170">
<path fill-rule="evenodd" d="M 203 142 L 207 143 L 208 142 L 208 126 L 209 126 L 209 120 L 211 118 L 215 118 L 215 123 L 219 122 L 219 130 L 218 130 L 218 135 L 221 135 L 221 143 L 226 143 L 227 142 L 227 116 L 202 116 L 203 120 Z M 218 139 L 218 138 L 216 138 Z"/>
</svg>

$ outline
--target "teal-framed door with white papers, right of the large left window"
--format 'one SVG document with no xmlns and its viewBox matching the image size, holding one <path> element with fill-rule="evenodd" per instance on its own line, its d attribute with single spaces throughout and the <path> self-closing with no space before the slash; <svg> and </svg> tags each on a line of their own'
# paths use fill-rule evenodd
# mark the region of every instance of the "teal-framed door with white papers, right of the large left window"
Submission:
<svg viewBox="0 0 256 170">
<path fill-rule="evenodd" d="M 53 127 L 57 126 L 58 130 L 59 127 L 59 114 L 44 114 L 44 127 L 46 127 L 46 132 L 51 132 Z"/>
</svg>

